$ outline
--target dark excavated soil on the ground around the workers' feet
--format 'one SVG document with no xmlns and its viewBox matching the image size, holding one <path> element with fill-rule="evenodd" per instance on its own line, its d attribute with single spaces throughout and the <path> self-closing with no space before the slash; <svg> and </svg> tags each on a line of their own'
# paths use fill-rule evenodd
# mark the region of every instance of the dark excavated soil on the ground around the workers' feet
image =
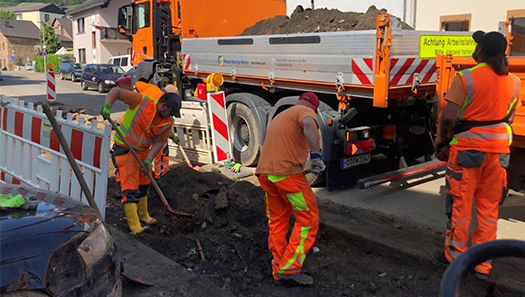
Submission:
<svg viewBox="0 0 525 297">
<path fill-rule="evenodd" d="M 433 231 L 399 224 L 390 217 L 370 216 L 365 211 L 320 202 L 320 231 L 304 267 L 315 284 L 312 288 L 285 288 L 272 280 L 264 193 L 259 187 L 248 181 L 234 182 L 219 173 L 197 172 L 183 165 L 172 167 L 159 185 L 172 208 L 191 213 L 193 217 L 168 214 L 150 189 L 150 212 L 159 223 L 136 238 L 188 270 L 209 276 L 219 287 L 236 296 L 437 296 L 439 293 L 444 270 L 430 260 L 385 252 L 384 248 L 356 240 L 325 222 L 329 220 L 328 213 L 336 214 L 355 222 L 349 228 L 360 228 L 368 225 L 364 217 L 371 217 L 393 232 L 404 228 L 417 237 L 428 235 L 435 239 L 432 241 L 435 245 L 429 246 L 427 240 L 421 248 L 428 250 L 429 259 L 434 248 L 441 247 L 443 239 Z M 129 232 L 113 178 L 107 199 L 107 223 Z M 421 232 L 428 234 L 418 235 Z M 465 296 L 485 296 L 487 290 L 494 291 L 489 284 L 479 284 L 476 280 L 468 281 L 463 289 Z M 217 296 L 220 295 L 218 292 Z"/>
</svg>

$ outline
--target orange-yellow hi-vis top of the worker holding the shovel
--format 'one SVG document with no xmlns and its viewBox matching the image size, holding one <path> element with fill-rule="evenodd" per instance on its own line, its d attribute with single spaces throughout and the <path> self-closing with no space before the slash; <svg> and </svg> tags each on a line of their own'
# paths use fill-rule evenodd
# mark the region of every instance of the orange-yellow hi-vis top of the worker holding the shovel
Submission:
<svg viewBox="0 0 525 297">
<path fill-rule="evenodd" d="M 158 100 L 143 96 L 134 109 L 127 109 L 119 126 L 120 132 L 131 144 L 134 150 L 147 150 L 155 138 L 172 126 L 171 117 L 162 119 L 159 124 L 152 126 L 157 113 Z M 113 136 L 117 145 L 126 146 L 118 134 Z"/>
</svg>

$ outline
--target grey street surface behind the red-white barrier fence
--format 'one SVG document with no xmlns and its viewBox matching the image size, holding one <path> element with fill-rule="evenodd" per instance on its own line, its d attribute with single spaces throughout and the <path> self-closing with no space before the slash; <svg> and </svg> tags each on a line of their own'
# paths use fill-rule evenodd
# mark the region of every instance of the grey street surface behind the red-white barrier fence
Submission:
<svg viewBox="0 0 525 297">
<path fill-rule="evenodd" d="M 3 71 L 3 81 L 0 81 L 0 95 L 16 97 L 26 102 L 43 102 L 46 100 L 46 81 L 43 73 L 34 71 Z M 98 115 L 106 94 L 96 90 L 83 91 L 80 82 L 60 80 L 57 74 L 56 102 L 72 108 L 84 108 L 87 114 Z M 125 111 L 126 105 L 117 101 L 113 112 Z"/>
</svg>

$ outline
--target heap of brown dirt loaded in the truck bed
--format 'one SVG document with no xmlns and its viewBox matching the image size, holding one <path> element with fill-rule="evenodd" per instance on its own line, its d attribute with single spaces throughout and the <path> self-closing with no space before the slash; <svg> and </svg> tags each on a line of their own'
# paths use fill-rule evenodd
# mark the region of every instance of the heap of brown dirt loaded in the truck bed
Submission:
<svg viewBox="0 0 525 297">
<path fill-rule="evenodd" d="M 342 12 L 337 9 L 303 9 L 297 6 L 292 15 L 279 15 L 263 20 L 244 30 L 241 35 L 292 34 L 312 32 L 337 32 L 352 30 L 375 30 L 377 15 L 386 13 L 386 9 L 370 6 L 366 13 Z M 399 20 L 399 18 L 398 18 Z M 401 20 L 399 20 L 401 22 Z M 401 22 L 402 23 L 402 22 Z M 412 29 L 402 23 L 403 29 Z"/>
</svg>

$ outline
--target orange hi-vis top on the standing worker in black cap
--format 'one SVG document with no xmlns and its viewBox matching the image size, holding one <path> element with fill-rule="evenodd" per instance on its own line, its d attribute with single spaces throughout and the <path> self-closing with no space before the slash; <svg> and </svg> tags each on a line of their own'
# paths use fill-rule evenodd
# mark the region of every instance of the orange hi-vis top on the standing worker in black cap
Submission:
<svg viewBox="0 0 525 297">
<path fill-rule="evenodd" d="M 512 129 L 503 119 L 513 112 L 518 103 L 519 78 L 513 74 L 499 76 L 485 63 L 463 70 L 459 75 L 468 95 L 457 119 L 496 123 L 458 133 L 450 144 L 460 151 L 509 153 Z"/>
</svg>

